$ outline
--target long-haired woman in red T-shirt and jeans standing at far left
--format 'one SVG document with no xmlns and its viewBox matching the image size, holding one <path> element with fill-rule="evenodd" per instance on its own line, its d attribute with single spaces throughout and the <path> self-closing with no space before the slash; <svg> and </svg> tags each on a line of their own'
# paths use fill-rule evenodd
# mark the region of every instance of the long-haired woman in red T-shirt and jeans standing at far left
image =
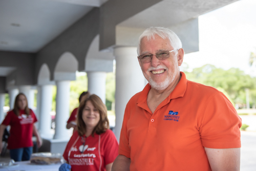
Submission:
<svg viewBox="0 0 256 171">
<path fill-rule="evenodd" d="M 28 108 L 28 100 L 23 93 L 19 93 L 14 102 L 14 109 L 7 113 L 4 121 L 0 125 L 0 137 L 3 137 L 4 130 L 11 126 L 10 137 L 8 138 L 8 149 L 10 157 L 14 161 L 27 161 L 33 151 L 32 135 L 36 136 L 38 148 L 42 140 L 34 125 L 36 122 L 34 112 Z M 0 149 L 2 151 L 3 142 L 0 138 Z"/>
</svg>

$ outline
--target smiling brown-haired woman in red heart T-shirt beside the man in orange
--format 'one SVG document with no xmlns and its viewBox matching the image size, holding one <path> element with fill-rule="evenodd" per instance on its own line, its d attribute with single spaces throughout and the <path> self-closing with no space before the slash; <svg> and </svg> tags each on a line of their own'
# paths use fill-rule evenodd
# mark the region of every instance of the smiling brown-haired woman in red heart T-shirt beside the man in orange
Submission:
<svg viewBox="0 0 256 171">
<path fill-rule="evenodd" d="M 59 171 L 101 170 L 110 171 L 118 156 L 118 142 L 109 129 L 107 109 L 93 94 L 82 100 L 77 114 L 77 131 L 63 153 L 67 163 Z"/>
</svg>

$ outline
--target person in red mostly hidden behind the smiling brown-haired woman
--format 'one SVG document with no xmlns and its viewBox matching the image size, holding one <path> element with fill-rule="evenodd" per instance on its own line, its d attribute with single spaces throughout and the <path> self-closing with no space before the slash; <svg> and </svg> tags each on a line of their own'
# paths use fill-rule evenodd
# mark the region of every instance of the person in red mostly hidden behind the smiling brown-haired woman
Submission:
<svg viewBox="0 0 256 171">
<path fill-rule="evenodd" d="M 90 95 L 89 92 L 82 92 L 79 96 L 79 104 L 81 103 L 82 100 L 86 99 L 88 96 Z M 76 129 L 76 115 L 77 115 L 77 110 L 78 108 L 75 108 L 70 117 L 69 117 L 69 120 L 67 121 L 67 129 L 71 129 L 71 127 L 73 127 L 74 129 L 74 132 L 75 132 L 75 129 Z"/>
</svg>

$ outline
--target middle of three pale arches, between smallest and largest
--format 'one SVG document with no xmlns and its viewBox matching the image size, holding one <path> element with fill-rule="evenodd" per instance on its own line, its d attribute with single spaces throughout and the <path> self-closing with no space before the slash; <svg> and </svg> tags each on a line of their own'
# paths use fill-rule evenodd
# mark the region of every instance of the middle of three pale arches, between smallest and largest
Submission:
<svg viewBox="0 0 256 171">
<path fill-rule="evenodd" d="M 65 52 L 57 61 L 54 69 L 54 80 L 75 80 L 77 70 L 78 61 L 76 57 L 70 52 Z"/>
</svg>

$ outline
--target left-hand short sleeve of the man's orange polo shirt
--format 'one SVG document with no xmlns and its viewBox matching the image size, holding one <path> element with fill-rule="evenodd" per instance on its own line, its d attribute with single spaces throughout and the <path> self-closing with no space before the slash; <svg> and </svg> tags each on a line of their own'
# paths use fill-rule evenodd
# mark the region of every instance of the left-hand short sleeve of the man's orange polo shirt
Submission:
<svg viewBox="0 0 256 171">
<path fill-rule="evenodd" d="M 123 123 L 122 129 L 120 133 L 120 140 L 119 140 L 119 155 L 123 155 L 127 158 L 131 158 L 131 149 L 129 146 L 129 136 L 127 134 L 127 121 L 129 119 L 129 108 L 125 108 L 124 116 L 123 116 Z"/>
</svg>

